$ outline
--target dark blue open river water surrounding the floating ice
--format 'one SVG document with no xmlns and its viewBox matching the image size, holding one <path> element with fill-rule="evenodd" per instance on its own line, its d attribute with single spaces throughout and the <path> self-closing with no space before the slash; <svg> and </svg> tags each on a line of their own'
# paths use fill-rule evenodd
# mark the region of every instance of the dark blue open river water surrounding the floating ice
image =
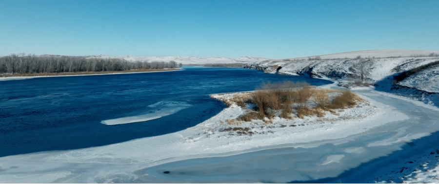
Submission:
<svg viewBox="0 0 439 184">
<path fill-rule="evenodd" d="M 331 83 L 242 68 L 185 69 L 0 81 L 0 157 L 103 146 L 180 131 L 225 108 L 222 102 L 210 99 L 212 93 L 251 91 L 266 81 Z M 160 101 L 193 106 L 147 122 L 114 126 L 100 123 L 145 114 L 148 105 Z"/>
</svg>

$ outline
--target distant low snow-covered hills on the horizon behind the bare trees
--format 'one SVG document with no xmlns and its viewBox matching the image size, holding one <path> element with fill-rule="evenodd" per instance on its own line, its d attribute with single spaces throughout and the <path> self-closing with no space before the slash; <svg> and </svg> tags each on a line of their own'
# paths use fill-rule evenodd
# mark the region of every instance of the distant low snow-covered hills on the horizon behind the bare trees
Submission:
<svg viewBox="0 0 439 184">
<path fill-rule="evenodd" d="M 120 58 L 128 61 L 176 61 L 183 64 L 211 64 L 211 63 L 251 63 L 257 61 L 270 60 L 262 57 L 242 56 L 235 59 L 227 57 L 183 57 L 183 56 L 165 56 L 165 57 L 137 57 L 132 55 L 111 56 L 111 55 L 93 55 L 87 58 Z"/>
</svg>

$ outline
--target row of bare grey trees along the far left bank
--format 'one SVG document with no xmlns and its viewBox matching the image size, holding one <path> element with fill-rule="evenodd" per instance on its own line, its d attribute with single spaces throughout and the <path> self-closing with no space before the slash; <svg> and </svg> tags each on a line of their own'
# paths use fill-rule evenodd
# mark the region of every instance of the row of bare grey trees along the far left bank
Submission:
<svg viewBox="0 0 439 184">
<path fill-rule="evenodd" d="M 85 58 L 81 56 L 38 56 L 11 54 L 0 57 L 0 74 L 40 74 L 66 72 L 111 72 L 137 69 L 175 68 L 175 61 L 126 61 L 118 58 Z M 181 66 L 181 64 L 180 64 Z"/>
</svg>

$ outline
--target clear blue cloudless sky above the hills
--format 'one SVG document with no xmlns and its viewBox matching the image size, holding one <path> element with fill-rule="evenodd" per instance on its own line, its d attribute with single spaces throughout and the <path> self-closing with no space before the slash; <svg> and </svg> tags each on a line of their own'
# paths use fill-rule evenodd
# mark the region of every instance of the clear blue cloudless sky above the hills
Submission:
<svg viewBox="0 0 439 184">
<path fill-rule="evenodd" d="M 0 55 L 439 50 L 439 0 L 0 0 Z"/>
</svg>

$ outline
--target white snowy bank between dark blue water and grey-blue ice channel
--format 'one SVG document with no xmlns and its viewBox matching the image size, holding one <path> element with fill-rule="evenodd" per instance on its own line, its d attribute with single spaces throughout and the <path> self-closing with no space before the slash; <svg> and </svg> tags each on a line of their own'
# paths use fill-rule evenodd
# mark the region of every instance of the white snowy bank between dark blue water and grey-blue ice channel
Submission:
<svg viewBox="0 0 439 184">
<path fill-rule="evenodd" d="M 236 155 L 273 147 L 306 148 L 310 146 L 307 143 L 313 143 L 312 147 L 316 147 L 316 141 L 338 140 L 389 122 L 409 119 L 404 113 L 395 111 L 395 107 L 364 95 L 361 97 L 371 103 L 370 107 L 377 106 L 379 109 L 369 109 L 375 110 L 375 113 L 361 120 L 317 121 L 317 118 L 312 117 L 303 120 L 297 118 L 300 122 L 290 123 L 297 124 L 296 127 L 282 126 L 285 122 L 274 120 L 273 126 L 256 128 L 255 125 L 255 132 L 258 133 L 237 136 L 219 131 L 224 126 L 220 121 L 235 118 L 242 113 L 239 106 L 232 105 L 195 127 L 171 134 L 103 147 L 3 157 L 0 158 L 0 182 L 145 182 L 149 174 L 139 175 L 136 174 L 137 170 L 179 160 Z M 364 107 L 345 113 L 363 113 L 360 109 L 364 110 Z M 410 136 L 408 140 L 419 136 L 424 134 Z M 342 158 L 327 159 L 328 164 L 337 163 L 331 159 Z"/>
</svg>

